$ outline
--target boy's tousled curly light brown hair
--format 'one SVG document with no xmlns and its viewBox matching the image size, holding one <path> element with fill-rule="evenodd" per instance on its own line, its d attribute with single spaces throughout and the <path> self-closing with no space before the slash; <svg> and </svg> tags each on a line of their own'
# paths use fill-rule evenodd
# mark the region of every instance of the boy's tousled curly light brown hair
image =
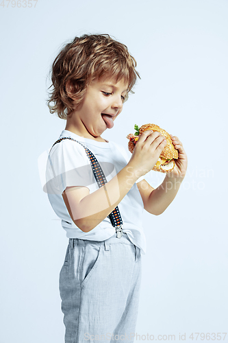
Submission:
<svg viewBox="0 0 228 343">
<path fill-rule="evenodd" d="M 137 76 L 140 78 L 135 68 L 136 60 L 126 45 L 112 39 L 109 34 L 75 37 L 62 48 L 49 71 L 52 82 L 49 88 L 53 86 L 47 99 L 50 113 L 66 119 L 81 103 L 88 84 L 105 75 L 116 77 L 116 82 L 125 80 L 128 88 L 124 102 L 127 101 L 128 93 L 134 93 L 132 88 Z"/>
</svg>

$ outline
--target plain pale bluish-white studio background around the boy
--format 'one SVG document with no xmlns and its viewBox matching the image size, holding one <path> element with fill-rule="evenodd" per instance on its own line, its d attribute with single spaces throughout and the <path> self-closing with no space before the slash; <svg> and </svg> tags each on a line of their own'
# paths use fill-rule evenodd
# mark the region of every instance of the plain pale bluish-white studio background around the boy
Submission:
<svg viewBox="0 0 228 343">
<path fill-rule="evenodd" d="M 66 125 L 46 105 L 49 68 L 62 45 L 85 33 L 107 33 L 127 45 L 141 76 L 102 137 L 127 150 L 135 123 L 156 123 L 188 154 L 188 174 L 172 204 L 159 216 L 144 212 L 137 342 L 147 333 L 176 341 L 186 334 L 186 342 L 191 333 L 193 341 L 195 333 L 210 333 L 210 340 L 221 333 L 228 342 L 228 1 L 31 3 L 0 6 L 0 342 L 64 342 L 58 278 L 68 239 L 42 191 L 38 158 Z M 163 178 L 151 171 L 153 187 Z"/>
</svg>

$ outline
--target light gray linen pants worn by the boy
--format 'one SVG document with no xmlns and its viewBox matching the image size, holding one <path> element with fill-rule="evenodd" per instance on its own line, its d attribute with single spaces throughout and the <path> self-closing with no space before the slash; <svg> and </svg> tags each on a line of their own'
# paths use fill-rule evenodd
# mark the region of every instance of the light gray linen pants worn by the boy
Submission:
<svg viewBox="0 0 228 343">
<path fill-rule="evenodd" d="M 126 233 L 70 238 L 60 271 L 65 343 L 134 342 L 141 274 L 140 248 Z"/>
</svg>

